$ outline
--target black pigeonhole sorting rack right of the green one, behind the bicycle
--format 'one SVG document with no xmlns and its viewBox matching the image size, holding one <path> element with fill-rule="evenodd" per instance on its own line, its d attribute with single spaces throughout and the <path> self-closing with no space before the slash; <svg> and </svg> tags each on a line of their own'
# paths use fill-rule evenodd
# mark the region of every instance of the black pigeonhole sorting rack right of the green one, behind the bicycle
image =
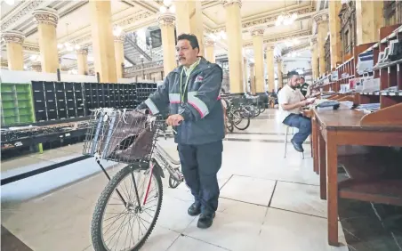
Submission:
<svg viewBox="0 0 402 251">
<path fill-rule="evenodd" d="M 85 117 L 91 109 L 134 109 L 157 90 L 155 83 L 32 81 L 36 122 Z"/>
</svg>

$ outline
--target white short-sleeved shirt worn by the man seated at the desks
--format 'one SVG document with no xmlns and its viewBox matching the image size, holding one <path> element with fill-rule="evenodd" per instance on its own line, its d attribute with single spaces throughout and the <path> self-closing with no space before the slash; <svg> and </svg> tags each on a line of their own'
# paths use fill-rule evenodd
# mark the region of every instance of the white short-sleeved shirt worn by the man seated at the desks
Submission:
<svg viewBox="0 0 402 251">
<path fill-rule="evenodd" d="M 304 100 L 303 94 L 301 94 L 299 89 L 293 90 L 289 85 L 285 85 L 284 88 L 280 90 L 277 97 L 277 102 L 279 104 L 280 121 L 284 122 L 285 118 L 291 113 L 300 114 L 301 108 L 285 110 L 282 108 L 283 104 L 294 104 Z"/>
</svg>

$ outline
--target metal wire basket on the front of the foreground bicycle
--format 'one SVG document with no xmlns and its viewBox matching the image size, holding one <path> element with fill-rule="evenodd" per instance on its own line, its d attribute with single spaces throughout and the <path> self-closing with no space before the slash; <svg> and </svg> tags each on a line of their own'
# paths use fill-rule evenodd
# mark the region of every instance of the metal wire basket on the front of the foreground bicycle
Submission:
<svg viewBox="0 0 402 251">
<path fill-rule="evenodd" d="M 155 117 L 135 109 L 95 109 L 83 154 L 119 163 L 149 160 L 157 140 Z"/>
</svg>

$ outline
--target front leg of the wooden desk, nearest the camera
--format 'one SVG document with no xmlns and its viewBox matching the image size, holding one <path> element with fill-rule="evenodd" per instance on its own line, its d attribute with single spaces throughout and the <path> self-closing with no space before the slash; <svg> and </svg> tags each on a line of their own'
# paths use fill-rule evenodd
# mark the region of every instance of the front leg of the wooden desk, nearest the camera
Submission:
<svg viewBox="0 0 402 251">
<path fill-rule="evenodd" d="M 328 244 L 338 246 L 338 149 L 336 135 L 328 132 L 326 136 L 326 172 L 328 175 Z"/>
</svg>

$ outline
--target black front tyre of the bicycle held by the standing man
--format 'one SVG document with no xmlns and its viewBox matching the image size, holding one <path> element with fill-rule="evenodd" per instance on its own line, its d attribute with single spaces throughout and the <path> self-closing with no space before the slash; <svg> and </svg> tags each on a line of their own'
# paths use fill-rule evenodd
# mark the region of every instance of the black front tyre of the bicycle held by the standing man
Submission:
<svg viewBox="0 0 402 251">
<path fill-rule="evenodd" d="M 113 191 L 117 189 L 117 186 L 127 175 L 130 175 L 132 171 L 139 169 L 133 168 L 132 166 L 125 166 L 121 169 L 113 178 L 110 180 L 108 185 L 105 189 L 101 192 L 101 197 L 98 199 L 96 203 L 95 210 L 92 215 L 92 223 L 91 223 L 91 236 L 92 236 L 92 246 L 95 251 L 108 251 L 108 249 L 104 246 L 103 239 L 102 239 L 102 230 L 101 230 L 101 223 L 102 223 L 102 215 L 106 209 L 106 206 L 109 201 L 109 197 L 113 194 Z M 160 213 L 160 209 L 162 206 L 162 198 L 163 198 L 163 185 L 162 179 L 157 172 L 152 172 L 152 175 L 155 177 L 157 181 L 157 189 L 159 191 L 159 196 L 157 198 L 157 210 L 152 220 L 152 223 L 149 225 L 149 230 L 146 234 L 142 237 L 142 239 L 138 242 L 136 246 L 134 246 L 131 251 L 138 251 L 141 247 L 145 244 L 149 235 L 154 230 L 155 224 L 157 223 L 157 218 Z M 130 247 L 131 248 L 131 247 Z"/>
</svg>

